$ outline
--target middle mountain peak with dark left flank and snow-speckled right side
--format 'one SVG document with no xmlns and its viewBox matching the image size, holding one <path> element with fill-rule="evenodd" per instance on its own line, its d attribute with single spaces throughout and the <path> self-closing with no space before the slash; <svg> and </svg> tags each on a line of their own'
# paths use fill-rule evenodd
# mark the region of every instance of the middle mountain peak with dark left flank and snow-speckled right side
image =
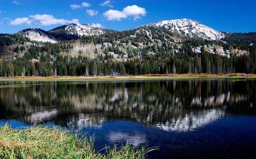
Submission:
<svg viewBox="0 0 256 159">
<path fill-rule="evenodd" d="M 109 29 L 94 27 L 89 24 L 72 23 L 51 29 L 49 32 L 60 40 L 72 40 L 82 36 L 101 35 L 109 31 Z"/>
</svg>

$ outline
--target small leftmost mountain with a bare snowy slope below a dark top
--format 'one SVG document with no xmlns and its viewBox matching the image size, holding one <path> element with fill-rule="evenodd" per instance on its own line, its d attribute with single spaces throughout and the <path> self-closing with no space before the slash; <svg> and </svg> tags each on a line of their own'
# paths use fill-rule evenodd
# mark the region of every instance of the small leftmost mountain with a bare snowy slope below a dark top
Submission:
<svg viewBox="0 0 256 159">
<path fill-rule="evenodd" d="M 18 32 L 17 34 L 20 34 L 28 38 L 30 41 L 50 43 L 57 42 L 56 38 L 54 38 L 51 35 L 51 33 L 44 31 L 43 29 L 25 29 L 23 31 Z"/>
</svg>

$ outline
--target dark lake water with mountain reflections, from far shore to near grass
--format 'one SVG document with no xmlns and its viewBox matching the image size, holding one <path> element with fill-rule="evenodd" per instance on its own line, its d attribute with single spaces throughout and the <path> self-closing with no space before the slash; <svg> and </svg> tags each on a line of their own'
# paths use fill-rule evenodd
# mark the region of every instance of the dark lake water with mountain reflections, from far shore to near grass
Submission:
<svg viewBox="0 0 256 159">
<path fill-rule="evenodd" d="M 58 125 L 149 158 L 254 158 L 256 80 L 0 82 L 0 125 Z"/>
</svg>

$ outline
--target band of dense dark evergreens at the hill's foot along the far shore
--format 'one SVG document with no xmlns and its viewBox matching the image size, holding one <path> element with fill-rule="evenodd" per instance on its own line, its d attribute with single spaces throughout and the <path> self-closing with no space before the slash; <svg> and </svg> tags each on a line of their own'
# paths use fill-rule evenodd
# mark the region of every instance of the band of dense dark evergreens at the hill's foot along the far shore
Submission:
<svg viewBox="0 0 256 159">
<path fill-rule="evenodd" d="M 255 45 L 250 46 L 250 54 L 242 56 L 231 54 L 230 58 L 208 53 L 203 48 L 201 49 L 202 53 L 193 53 L 189 48 L 185 50 L 181 47 L 180 50 L 184 49 L 184 53 L 152 55 L 142 52 L 139 53 L 141 56 L 128 61 L 115 61 L 108 56 L 88 58 L 59 54 L 52 60 L 51 54 L 45 52 L 40 56 L 40 61 L 31 61 L 29 56 L 1 59 L 0 76 L 106 76 L 112 75 L 114 72 L 121 75 L 232 74 L 237 72 L 256 74 Z"/>
</svg>

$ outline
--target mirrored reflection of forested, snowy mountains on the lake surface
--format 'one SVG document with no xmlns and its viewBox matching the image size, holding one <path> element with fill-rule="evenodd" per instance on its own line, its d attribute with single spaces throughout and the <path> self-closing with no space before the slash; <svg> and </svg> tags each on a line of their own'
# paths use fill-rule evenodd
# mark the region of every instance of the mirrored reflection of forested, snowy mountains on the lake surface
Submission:
<svg viewBox="0 0 256 159">
<path fill-rule="evenodd" d="M 0 109 L 2 120 L 52 122 L 76 131 L 118 119 L 193 131 L 228 114 L 255 115 L 255 81 L 10 81 L 0 83 Z"/>
</svg>

